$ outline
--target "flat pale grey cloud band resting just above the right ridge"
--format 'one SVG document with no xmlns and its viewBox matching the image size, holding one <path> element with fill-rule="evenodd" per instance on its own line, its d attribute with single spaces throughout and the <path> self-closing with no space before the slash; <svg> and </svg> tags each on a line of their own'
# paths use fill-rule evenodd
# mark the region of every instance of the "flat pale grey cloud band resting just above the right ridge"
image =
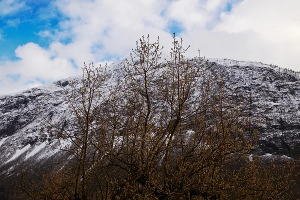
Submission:
<svg viewBox="0 0 300 200">
<path fill-rule="evenodd" d="M 262 61 L 293 67 L 297 70 L 298 50 L 291 48 L 296 43 L 273 43 L 265 40 L 253 30 L 240 32 L 195 30 L 181 34 L 185 44 L 190 44 L 188 55 L 196 55 L 200 49 L 201 56 L 221 57 L 236 60 Z"/>
</svg>

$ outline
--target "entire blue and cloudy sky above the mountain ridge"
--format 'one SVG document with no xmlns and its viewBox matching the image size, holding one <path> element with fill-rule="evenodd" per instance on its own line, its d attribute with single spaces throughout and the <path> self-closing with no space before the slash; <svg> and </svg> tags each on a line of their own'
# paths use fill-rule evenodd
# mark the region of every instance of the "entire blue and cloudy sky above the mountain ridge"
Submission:
<svg viewBox="0 0 300 200">
<path fill-rule="evenodd" d="M 0 94 L 111 63 L 173 32 L 187 56 L 261 61 L 300 71 L 300 0 L 0 0 Z"/>
</svg>

